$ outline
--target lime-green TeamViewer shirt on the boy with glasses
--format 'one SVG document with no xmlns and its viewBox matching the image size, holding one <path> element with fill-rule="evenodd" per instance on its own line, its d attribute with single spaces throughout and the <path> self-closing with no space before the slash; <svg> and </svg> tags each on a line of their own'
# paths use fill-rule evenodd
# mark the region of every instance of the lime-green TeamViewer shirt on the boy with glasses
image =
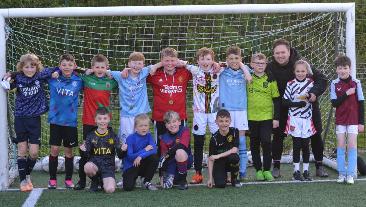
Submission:
<svg viewBox="0 0 366 207">
<path fill-rule="evenodd" d="M 248 120 L 262 121 L 273 119 L 273 100 L 279 97 L 277 82 L 268 83 L 267 73 L 258 77 L 252 74 L 252 83 L 247 85 Z"/>
</svg>

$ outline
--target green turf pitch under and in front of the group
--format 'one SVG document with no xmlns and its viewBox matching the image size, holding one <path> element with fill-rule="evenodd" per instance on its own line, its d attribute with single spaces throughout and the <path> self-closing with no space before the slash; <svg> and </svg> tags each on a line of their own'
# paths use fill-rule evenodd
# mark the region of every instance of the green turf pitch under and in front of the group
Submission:
<svg viewBox="0 0 366 207">
<path fill-rule="evenodd" d="M 366 154 L 360 154 L 366 160 Z M 300 169 L 302 165 L 300 164 Z M 311 163 L 309 170 L 314 180 L 336 179 L 338 172 L 325 168 L 328 178 L 315 176 L 315 164 Z M 282 176 L 275 181 L 291 181 L 292 164 L 281 165 Z M 187 180 L 193 177 L 194 172 L 188 172 Z M 300 183 L 262 183 L 255 181 L 255 169 L 247 168 L 247 175 L 252 184 L 244 184 L 242 188 L 228 185 L 224 189 L 208 188 L 206 186 L 190 185 L 187 191 L 179 191 L 178 187 L 165 190 L 159 187 L 158 191 L 147 191 L 137 188 L 132 192 L 124 192 L 117 188 L 113 194 L 99 191 L 96 194 L 86 190 L 74 191 L 65 189 L 47 190 L 42 192 L 36 206 L 240 206 L 261 205 L 272 206 L 364 206 L 364 192 L 366 182 L 356 180 L 354 185 L 337 184 L 330 182 L 300 182 Z M 59 187 L 64 187 L 64 174 L 58 174 Z M 116 180 L 122 177 L 122 172 L 116 173 Z M 204 182 L 208 179 L 208 172 L 203 172 Z M 73 175 L 74 183 L 78 181 L 78 174 Z M 366 176 L 359 175 L 359 179 Z M 49 175 L 43 171 L 32 172 L 31 179 L 36 188 L 46 188 Z M 152 183 L 157 184 L 158 174 L 155 173 Z M 89 182 L 87 178 L 87 183 Z M 139 179 L 137 180 L 139 184 Z M 19 179 L 11 188 L 19 188 Z M 22 205 L 29 192 L 1 191 L 1 206 Z M 180 200 L 180 198 L 183 198 Z"/>
</svg>

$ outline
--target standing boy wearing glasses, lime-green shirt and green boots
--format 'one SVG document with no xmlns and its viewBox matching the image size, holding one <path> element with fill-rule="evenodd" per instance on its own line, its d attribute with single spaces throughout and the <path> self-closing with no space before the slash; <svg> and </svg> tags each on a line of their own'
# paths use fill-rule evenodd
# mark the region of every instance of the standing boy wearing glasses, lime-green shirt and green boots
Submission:
<svg viewBox="0 0 366 207">
<path fill-rule="evenodd" d="M 280 93 L 277 83 L 267 81 L 267 73 L 264 71 L 267 58 L 262 53 L 252 55 L 250 66 L 254 69 L 253 80 L 247 86 L 248 100 L 248 126 L 246 136 L 250 138 L 250 150 L 253 165 L 257 170 L 259 181 L 274 181 L 275 178 L 269 172 L 272 164 L 272 128 L 279 126 L 280 118 Z M 275 114 L 273 115 L 273 106 Z M 263 170 L 259 146 L 263 150 Z"/>
</svg>

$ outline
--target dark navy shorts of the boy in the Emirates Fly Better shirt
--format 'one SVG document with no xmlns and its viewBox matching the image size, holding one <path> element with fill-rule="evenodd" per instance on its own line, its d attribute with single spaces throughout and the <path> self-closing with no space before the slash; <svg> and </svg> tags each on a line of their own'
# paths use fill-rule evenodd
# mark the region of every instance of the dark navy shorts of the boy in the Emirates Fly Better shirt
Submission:
<svg viewBox="0 0 366 207">
<path fill-rule="evenodd" d="M 14 143 L 28 142 L 39 145 L 41 143 L 41 116 L 33 118 L 14 118 Z"/>
</svg>

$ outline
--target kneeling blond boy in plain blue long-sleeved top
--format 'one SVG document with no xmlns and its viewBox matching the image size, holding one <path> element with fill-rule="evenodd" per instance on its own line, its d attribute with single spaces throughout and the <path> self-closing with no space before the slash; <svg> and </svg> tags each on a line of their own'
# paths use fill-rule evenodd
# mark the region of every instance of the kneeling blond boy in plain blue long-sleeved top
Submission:
<svg viewBox="0 0 366 207">
<path fill-rule="evenodd" d="M 150 118 L 146 114 L 135 116 L 135 129 L 127 139 L 127 156 L 123 159 L 123 189 L 132 191 L 138 175 L 141 176 L 143 188 L 157 190 L 150 181 L 158 166 L 156 145 L 153 135 L 149 133 Z"/>
</svg>

